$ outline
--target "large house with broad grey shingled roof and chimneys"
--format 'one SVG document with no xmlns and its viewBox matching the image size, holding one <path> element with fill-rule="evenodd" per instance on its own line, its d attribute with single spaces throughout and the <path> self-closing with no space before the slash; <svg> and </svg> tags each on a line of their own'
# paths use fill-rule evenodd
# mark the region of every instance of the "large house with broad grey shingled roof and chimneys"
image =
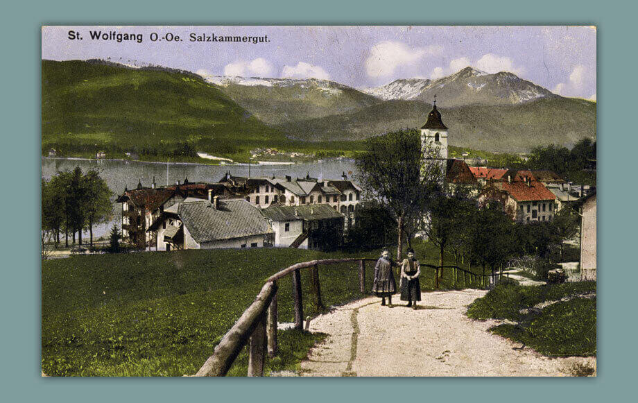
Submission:
<svg viewBox="0 0 638 403">
<path fill-rule="evenodd" d="M 186 198 L 164 209 L 148 228 L 158 250 L 263 248 L 273 230 L 261 210 L 244 199 Z"/>
</svg>

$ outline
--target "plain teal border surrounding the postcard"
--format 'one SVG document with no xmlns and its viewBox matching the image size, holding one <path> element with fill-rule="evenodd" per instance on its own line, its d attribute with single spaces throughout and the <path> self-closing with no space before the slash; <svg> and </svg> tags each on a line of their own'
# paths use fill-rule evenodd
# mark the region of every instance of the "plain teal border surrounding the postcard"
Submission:
<svg viewBox="0 0 638 403">
<path fill-rule="evenodd" d="M 55 1 L 3 5 L 0 397 L 6 402 L 631 399 L 636 371 L 635 6 L 621 1 Z M 596 379 L 40 377 L 40 26 L 55 24 L 592 24 L 598 26 Z M 624 224 L 624 225 L 623 225 Z"/>
</svg>

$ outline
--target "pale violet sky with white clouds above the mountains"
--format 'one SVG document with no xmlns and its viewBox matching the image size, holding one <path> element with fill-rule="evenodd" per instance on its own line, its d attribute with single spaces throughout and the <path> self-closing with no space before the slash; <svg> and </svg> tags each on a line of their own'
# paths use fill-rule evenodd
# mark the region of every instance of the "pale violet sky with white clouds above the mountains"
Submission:
<svg viewBox="0 0 638 403">
<path fill-rule="evenodd" d="M 69 31 L 82 39 L 69 39 Z M 92 39 L 91 31 L 141 34 L 141 43 Z M 191 34 L 267 42 L 191 42 Z M 355 88 L 439 78 L 471 66 L 510 71 L 562 96 L 596 99 L 596 28 L 590 26 L 45 26 L 42 58 L 320 78 Z"/>
</svg>

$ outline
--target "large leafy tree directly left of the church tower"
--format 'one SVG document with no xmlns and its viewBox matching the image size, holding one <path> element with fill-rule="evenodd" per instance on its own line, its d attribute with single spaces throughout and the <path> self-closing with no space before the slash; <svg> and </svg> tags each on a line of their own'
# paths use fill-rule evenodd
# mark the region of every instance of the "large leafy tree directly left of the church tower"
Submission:
<svg viewBox="0 0 638 403">
<path fill-rule="evenodd" d="M 401 259 L 406 226 L 415 226 L 427 211 L 430 195 L 442 183 L 436 150 L 421 148 L 418 130 L 372 137 L 357 155 L 356 178 L 364 196 L 377 201 L 397 223 L 397 259 Z"/>
</svg>

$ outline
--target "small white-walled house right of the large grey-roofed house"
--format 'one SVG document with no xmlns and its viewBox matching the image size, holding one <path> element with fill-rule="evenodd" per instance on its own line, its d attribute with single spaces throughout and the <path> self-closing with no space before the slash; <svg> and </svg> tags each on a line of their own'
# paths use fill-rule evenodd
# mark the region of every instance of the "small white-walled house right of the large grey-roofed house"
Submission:
<svg viewBox="0 0 638 403">
<path fill-rule="evenodd" d="M 344 216 L 327 204 L 272 205 L 262 212 L 275 232 L 275 246 L 331 250 L 343 239 Z"/>
</svg>

